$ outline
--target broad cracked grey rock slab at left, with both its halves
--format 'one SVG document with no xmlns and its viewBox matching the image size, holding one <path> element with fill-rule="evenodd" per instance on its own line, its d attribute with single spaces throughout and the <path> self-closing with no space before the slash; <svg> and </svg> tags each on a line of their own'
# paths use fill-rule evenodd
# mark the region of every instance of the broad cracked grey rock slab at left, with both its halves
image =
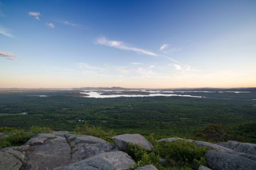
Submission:
<svg viewBox="0 0 256 170">
<path fill-rule="evenodd" d="M 118 148 L 100 138 L 55 131 L 31 138 L 20 147 L 20 151 L 26 156 L 22 167 L 24 170 L 45 170 L 75 163 L 102 152 L 118 151 Z"/>
</svg>

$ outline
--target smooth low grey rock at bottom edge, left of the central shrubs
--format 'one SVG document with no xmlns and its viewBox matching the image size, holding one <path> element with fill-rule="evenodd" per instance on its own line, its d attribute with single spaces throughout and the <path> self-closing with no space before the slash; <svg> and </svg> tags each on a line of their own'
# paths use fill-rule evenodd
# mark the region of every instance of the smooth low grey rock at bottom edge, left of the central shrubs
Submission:
<svg viewBox="0 0 256 170">
<path fill-rule="evenodd" d="M 133 167 L 134 163 L 134 160 L 125 152 L 105 152 L 64 167 L 55 168 L 54 170 L 129 169 Z"/>
</svg>

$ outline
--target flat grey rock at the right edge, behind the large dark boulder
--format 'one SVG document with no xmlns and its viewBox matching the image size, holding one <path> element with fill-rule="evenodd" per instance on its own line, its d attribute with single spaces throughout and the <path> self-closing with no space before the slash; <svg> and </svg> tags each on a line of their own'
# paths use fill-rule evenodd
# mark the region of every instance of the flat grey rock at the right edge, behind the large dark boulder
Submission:
<svg viewBox="0 0 256 170">
<path fill-rule="evenodd" d="M 243 152 L 245 154 L 256 155 L 256 144 L 254 144 L 254 143 L 228 141 L 228 142 L 218 143 L 218 145 L 230 148 L 237 152 Z"/>
</svg>

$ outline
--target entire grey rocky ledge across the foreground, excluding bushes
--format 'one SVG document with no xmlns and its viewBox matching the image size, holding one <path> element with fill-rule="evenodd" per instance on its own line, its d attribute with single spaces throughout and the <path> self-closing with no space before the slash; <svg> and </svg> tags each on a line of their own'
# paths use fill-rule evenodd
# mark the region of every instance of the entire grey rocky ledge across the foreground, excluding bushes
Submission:
<svg viewBox="0 0 256 170">
<path fill-rule="evenodd" d="M 127 155 L 127 145 L 133 143 L 150 151 L 152 144 L 139 134 L 123 134 L 112 138 L 115 145 L 89 135 L 67 131 L 41 133 L 22 146 L 0 150 L 0 169 L 129 169 L 134 160 Z M 236 141 L 213 144 L 182 138 L 160 139 L 159 142 L 184 140 L 199 147 L 208 147 L 205 159 L 211 169 L 256 169 L 256 145 Z M 145 165 L 135 169 L 156 169 Z M 200 166 L 199 169 L 209 169 Z"/>
</svg>

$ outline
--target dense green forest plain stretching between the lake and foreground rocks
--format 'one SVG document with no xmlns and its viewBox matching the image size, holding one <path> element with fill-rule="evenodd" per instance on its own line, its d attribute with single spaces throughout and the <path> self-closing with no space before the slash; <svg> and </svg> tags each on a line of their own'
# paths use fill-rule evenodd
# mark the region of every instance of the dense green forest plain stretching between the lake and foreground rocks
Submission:
<svg viewBox="0 0 256 170">
<path fill-rule="evenodd" d="M 243 141 L 256 142 L 256 92 L 187 93 L 194 97 L 86 98 L 75 92 L 0 93 L 0 126 L 44 126 L 69 130 L 85 122 L 117 134 L 196 138 L 200 129 L 221 124 Z M 40 97 L 36 95 L 48 95 Z"/>
</svg>

